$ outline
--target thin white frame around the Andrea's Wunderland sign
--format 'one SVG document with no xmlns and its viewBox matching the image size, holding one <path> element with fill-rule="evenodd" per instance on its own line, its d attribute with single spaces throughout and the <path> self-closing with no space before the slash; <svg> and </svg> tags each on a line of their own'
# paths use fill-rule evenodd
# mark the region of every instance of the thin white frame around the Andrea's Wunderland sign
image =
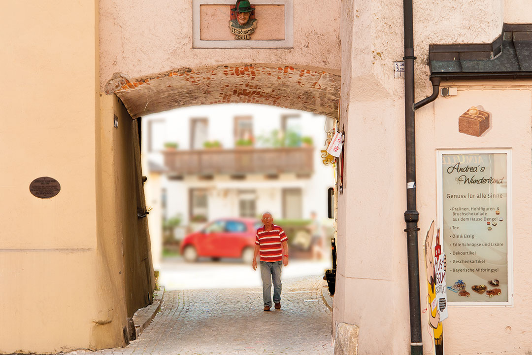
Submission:
<svg viewBox="0 0 532 355">
<path fill-rule="evenodd" d="M 508 241 L 508 301 L 502 302 L 453 302 L 448 301 L 449 307 L 508 307 L 513 306 L 513 211 L 512 211 L 512 150 L 508 148 L 485 149 L 438 149 L 436 150 L 436 183 L 437 183 L 437 220 L 438 227 L 443 226 L 443 179 L 442 159 L 444 154 L 506 154 L 506 238 Z M 442 235 L 443 242 L 443 235 Z M 443 244 L 443 243 L 442 243 Z M 447 265 L 447 268 L 449 265 Z M 447 279 L 448 281 L 448 279 Z M 447 284 L 449 286 L 449 284 Z"/>
</svg>

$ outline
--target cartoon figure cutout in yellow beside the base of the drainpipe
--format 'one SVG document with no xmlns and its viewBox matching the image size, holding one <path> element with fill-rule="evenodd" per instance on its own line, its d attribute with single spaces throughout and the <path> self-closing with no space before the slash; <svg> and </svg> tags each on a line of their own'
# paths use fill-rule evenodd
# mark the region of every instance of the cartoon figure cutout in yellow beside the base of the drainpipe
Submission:
<svg viewBox="0 0 532 355">
<path fill-rule="evenodd" d="M 427 271 L 429 324 L 433 328 L 436 355 L 443 355 L 443 325 L 442 322 L 440 322 L 438 302 L 436 300 L 436 270 L 434 267 L 434 257 L 432 252 L 433 238 L 434 221 L 430 224 L 429 231 L 427 232 L 427 237 L 425 238 L 425 267 Z"/>
</svg>

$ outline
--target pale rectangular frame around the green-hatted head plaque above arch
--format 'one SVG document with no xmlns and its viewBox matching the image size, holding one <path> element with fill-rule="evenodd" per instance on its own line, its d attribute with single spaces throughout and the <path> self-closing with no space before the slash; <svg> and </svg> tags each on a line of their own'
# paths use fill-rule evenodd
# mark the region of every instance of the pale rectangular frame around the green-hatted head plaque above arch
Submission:
<svg viewBox="0 0 532 355">
<path fill-rule="evenodd" d="M 192 0 L 192 47 L 193 48 L 293 48 L 294 6 L 293 0 L 252 0 L 252 5 L 285 6 L 284 40 L 203 40 L 200 39 L 201 5 L 235 5 L 235 0 Z"/>
</svg>

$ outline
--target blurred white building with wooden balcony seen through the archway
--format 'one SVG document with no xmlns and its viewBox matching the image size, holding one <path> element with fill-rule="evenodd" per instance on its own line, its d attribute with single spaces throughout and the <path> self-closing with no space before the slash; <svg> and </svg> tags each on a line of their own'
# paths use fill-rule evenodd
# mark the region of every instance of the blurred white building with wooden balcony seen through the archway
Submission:
<svg viewBox="0 0 532 355">
<path fill-rule="evenodd" d="M 322 115 L 253 104 L 148 115 L 143 161 L 151 174 L 161 173 L 148 203 L 158 205 L 162 219 L 181 219 L 177 238 L 206 221 L 264 211 L 276 219 L 310 219 L 315 212 L 326 220 L 334 169 L 320 151 L 331 126 Z M 161 224 L 150 220 L 149 227 L 155 244 Z"/>
</svg>

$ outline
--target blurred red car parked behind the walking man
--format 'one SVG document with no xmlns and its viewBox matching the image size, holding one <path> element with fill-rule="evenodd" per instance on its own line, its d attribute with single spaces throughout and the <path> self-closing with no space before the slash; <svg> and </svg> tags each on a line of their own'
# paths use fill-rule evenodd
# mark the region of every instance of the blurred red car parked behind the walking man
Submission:
<svg viewBox="0 0 532 355">
<path fill-rule="evenodd" d="M 261 226 L 254 218 L 217 219 L 200 232 L 187 235 L 181 243 L 181 255 L 188 262 L 208 257 L 242 258 L 245 263 L 251 263 L 256 230 Z"/>
</svg>

